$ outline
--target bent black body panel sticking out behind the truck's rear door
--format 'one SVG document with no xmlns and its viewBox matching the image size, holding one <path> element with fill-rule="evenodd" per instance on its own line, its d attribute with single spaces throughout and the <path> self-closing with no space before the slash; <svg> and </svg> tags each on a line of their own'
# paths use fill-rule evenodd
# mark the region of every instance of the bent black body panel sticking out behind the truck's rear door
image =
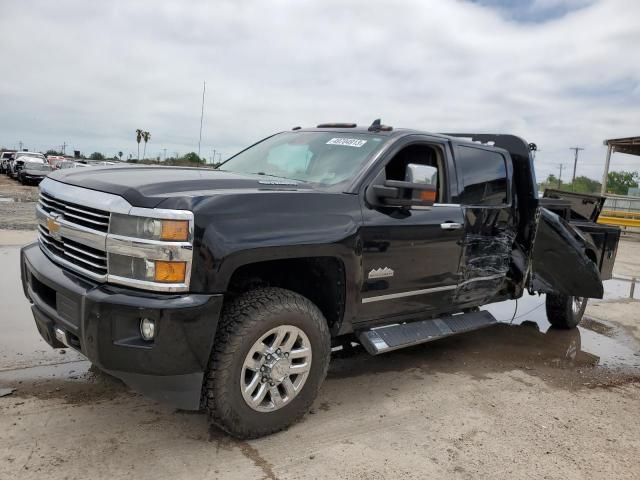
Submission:
<svg viewBox="0 0 640 480">
<path fill-rule="evenodd" d="M 540 209 L 533 246 L 532 290 L 602 298 L 595 246 L 559 215 Z"/>
</svg>

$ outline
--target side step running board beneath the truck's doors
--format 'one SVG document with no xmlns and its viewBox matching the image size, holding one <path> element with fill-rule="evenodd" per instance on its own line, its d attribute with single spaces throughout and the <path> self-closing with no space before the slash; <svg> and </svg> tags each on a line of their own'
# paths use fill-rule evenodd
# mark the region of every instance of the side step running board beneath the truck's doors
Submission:
<svg viewBox="0 0 640 480">
<path fill-rule="evenodd" d="M 497 320 L 489 312 L 469 312 L 450 317 L 364 330 L 358 334 L 358 338 L 367 352 L 371 355 L 378 355 L 391 350 L 448 337 L 456 333 L 478 330 L 495 323 L 497 323 Z"/>
</svg>

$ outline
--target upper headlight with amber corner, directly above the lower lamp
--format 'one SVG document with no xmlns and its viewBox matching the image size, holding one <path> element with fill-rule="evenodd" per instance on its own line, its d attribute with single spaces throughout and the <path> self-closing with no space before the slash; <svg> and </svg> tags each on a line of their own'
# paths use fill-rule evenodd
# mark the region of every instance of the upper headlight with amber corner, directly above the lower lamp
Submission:
<svg viewBox="0 0 640 480">
<path fill-rule="evenodd" d="M 189 221 L 134 217 L 113 213 L 110 232 L 125 237 L 186 242 L 189 240 Z"/>
</svg>

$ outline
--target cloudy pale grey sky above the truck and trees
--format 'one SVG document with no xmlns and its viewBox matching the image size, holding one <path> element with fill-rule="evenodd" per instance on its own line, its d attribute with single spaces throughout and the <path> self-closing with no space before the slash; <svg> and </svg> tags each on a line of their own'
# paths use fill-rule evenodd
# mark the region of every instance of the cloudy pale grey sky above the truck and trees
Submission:
<svg viewBox="0 0 640 480">
<path fill-rule="evenodd" d="M 328 121 L 535 142 L 600 179 L 640 135 L 637 0 L 2 0 L 0 146 L 223 158 Z M 612 170 L 640 170 L 615 154 Z"/>
</svg>

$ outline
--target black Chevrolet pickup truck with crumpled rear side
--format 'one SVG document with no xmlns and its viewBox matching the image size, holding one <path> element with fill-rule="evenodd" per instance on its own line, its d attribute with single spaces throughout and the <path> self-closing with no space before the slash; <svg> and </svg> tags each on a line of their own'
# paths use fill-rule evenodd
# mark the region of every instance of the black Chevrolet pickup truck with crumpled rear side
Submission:
<svg viewBox="0 0 640 480">
<path fill-rule="evenodd" d="M 376 121 L 295 128 L 217 170 L 58 171 L 24 292 L 54 348 L 265 435 L 310 407 L 332 346 L 375 355 L 492 325 L 479 307 L 526 291 L 554 326 L 578 324 L 619 232 L 579 197 L 539 199 L 532 148 Z"/>
</svg>

